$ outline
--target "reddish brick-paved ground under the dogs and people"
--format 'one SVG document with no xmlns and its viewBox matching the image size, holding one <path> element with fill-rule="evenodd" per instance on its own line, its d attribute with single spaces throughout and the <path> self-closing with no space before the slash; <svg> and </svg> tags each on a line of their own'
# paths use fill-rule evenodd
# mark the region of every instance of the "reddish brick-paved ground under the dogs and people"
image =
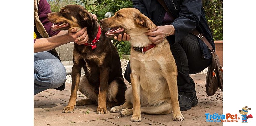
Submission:
<svg viewBox="0 0 256 126">
<path fill-rule="evenodd" d="M 205 89 L 205 74 L 191 75 L 196 83 L 198 106 L 188 111 L 183 111 L 185 121 L 172 121 L 172 114 L 146 115 L 142 114 L 141 122 L 131 122 L 131 116 L 121 117 L 119 113 L 96 114 L 97 106 L 94 104 L 76 106 L 72 113 L 62 113 L 62 109 L 68 104 L 71 93 L 71 83 L 66 84 L 64 91 L 48 89 L 34 96 L 34 125 L 222 125 L 222 122 L 206 122 L 205 113 L 222 114 L 222 91 L 219 89 L 215 95 L 209 97 Z M 128 82 L 127 87 L 131 86 Z M 77 100 L 85 96 L 78 91 Z"/>
</svg>

